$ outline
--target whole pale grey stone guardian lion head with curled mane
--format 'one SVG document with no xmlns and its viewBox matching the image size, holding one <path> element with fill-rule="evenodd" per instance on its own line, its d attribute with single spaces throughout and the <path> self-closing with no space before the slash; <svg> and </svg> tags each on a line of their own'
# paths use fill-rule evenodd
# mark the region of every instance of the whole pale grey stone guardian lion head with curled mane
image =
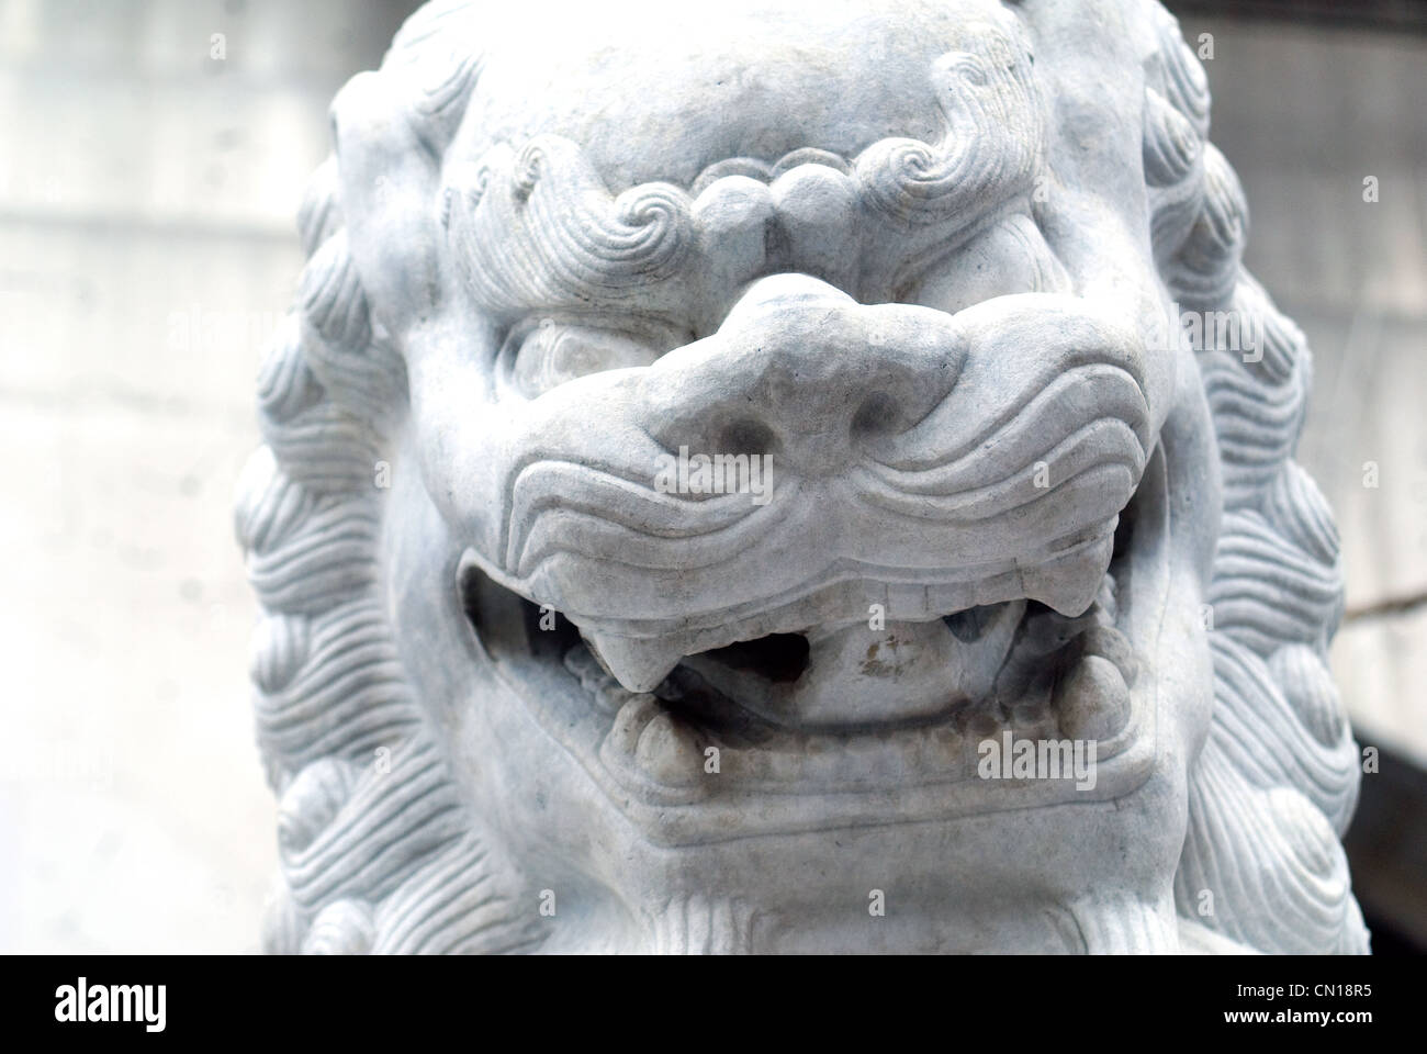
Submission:
<svg viewBox="0 0 1427 1054">
<path fill-rule="evenodd" d="M 1309 350 L 1174 20 L 497 7 L 337 97 L 258 381 L 265 947 L 1366 951 Z"/>
</svg>

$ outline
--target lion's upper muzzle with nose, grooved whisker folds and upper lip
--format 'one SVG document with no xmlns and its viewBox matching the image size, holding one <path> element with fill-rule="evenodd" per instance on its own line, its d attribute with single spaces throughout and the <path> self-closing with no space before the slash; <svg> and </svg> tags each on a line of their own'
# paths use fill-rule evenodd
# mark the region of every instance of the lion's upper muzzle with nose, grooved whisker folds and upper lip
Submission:
<svg viewBox="0 0 1427 1054">
<path fill-rule="evenodd" d="M 636 690 L 682 656 L 875 606 L 1077 614 L 1152 448 L 1142 358 L 1075 297 L 946 314 L 763 278 L 709 337 L 521 407 L 468 558 Z"/>
</svg>

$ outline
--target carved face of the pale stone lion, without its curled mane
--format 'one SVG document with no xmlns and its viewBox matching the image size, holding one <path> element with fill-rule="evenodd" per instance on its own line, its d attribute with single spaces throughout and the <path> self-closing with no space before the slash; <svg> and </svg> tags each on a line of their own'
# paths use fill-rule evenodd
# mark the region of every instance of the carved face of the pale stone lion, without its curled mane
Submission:
<svg viewBox="0 0 1427 1054">
<path fill-rule="evenodd" d="M 458 353 L 408 347 L 424 484 L 392 496 L 435 507 L 394 573 L 425 583 L 397 624 L 420 647 L 440 624 L 458 667 L 421 694 L 574 903 L 695 895 L 796 933 L 848 881 L 859 911 L 993 898 L 1045 870 L 1053 824 L 1083 841 L 1037 874 L 1046 905 L 1113 885 L 1172 928 L 1207 648 L 1202 524 L 1170 516 L 1159 441 L 1187 351 L 1140 333 L 1152 261 L 1097 291 L 1129 207 L 1099 187 L 1104 227 L 1047 239 L 1076 193 L 1015 19 L 939 13 L 915 50 L 875 41 L 900 49 L 876 70 L 803 29 L 819 57 L 792 69 L 668 37 L 562 57 L 557 120 L 482 71 L 437 236 L 472 324 Z M 606 107 L 606 67 L 733 87 L 668 121 Z M 681 450 L 769 486 L 658 487 Z M 1093 741 L 1093 786 L 980 778 L 1003 733 Z"/>
</svg>

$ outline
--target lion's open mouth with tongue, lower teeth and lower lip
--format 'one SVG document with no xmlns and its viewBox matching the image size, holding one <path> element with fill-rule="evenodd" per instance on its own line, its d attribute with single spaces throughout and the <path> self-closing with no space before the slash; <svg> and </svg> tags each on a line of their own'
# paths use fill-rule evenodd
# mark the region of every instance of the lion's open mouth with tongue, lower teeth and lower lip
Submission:
<svg viewBox="0 0 1427 1054">
<path fill-rule="evenodd" d="M 574 624 L 469 554 L 458 587 L 497 674 L 669 841 L 1104 800 L 1137 787 L 1153 757 L 1146 656 L 1169 578 L 1163 491 L 1156 453 L 1099 593 L 1075 617 L 1022 598 L 919 623 L 811 626 L 684 656 L 651 691 L 622 684 Z M 1006 734 L 1095 743 L 1096 788 L 1069 773 L 979 778 L 980 744 Z M 808 795 L 826 798 L 823 814 Z M 718 817 L 733 813 L 728 833 Z"/>
</svg>

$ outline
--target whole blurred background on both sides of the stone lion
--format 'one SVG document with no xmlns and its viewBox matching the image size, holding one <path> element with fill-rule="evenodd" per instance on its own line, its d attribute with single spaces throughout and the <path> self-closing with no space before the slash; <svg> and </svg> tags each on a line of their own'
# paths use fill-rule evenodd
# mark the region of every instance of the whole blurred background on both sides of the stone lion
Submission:
<svg viewBox="0 0 1427 1054">
<path fill-rule="evenodd" d="M 257 950 L 275 810 L 231 491 L 327 104 L 415 6 L 0 0 L 0 951 Z M 1427 4 L 1169 7 L 1249 266 L 1314 350 L 1299 457 L 1344 543 L 1334 674 L 1380 750 L 1349 853 L 1377 951 L 1423 951 Z"/>
</svg>

